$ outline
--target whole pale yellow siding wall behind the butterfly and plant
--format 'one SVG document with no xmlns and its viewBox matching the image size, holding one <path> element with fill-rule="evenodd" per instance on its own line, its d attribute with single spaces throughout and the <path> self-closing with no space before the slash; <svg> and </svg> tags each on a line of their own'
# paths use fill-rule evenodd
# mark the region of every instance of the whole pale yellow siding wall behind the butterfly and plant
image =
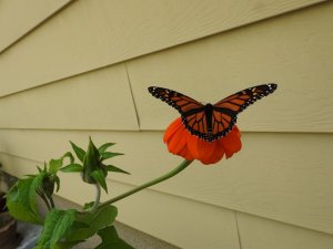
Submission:
<svg viewBox="0 0 333 249">
<path fill-rule="evenodd" d="M 113 163 L 132 175 L 109 178 L 114 196 L 181 162 L 161 142 L 178 113 L 149 85 L 214 102 L 278 82 L 240 115 L 240 154 L 119 201 L 119 220 L 181 248 L 333 248 L 332 1 L 33 2 L 0 2 L 7 172 L 33 173 L 91 135 L 125 153 Z M 60 196 L 92 198 L 62 176 Z"/>
</svg>

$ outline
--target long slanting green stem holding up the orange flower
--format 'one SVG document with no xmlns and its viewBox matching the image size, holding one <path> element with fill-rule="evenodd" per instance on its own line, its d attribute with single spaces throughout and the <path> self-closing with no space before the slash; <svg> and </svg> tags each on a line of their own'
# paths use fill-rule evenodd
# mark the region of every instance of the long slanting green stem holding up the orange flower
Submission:
<svg viewBox="0 0 333 249">
<path fill-rule="evenodd" d="M 192 162 L 193 162 L 193 160 L 184 160 L 184 162 L 181 163 L 178 167 L 175 167 L 173 170 L 167 173 L 165 175 L 160 176 L 160 177 L 158 177 L 158 178 L 155 178 L 155 179 L 153 179 L 153 180 L 150 180 L 150 181 L 148 181 L 148 183 L 141 185 L 141 186 L 138 186 L 137 188 L 133 188 L 133 189 L 131 189 L 131 190 L 129 190 L 129 191 L 127 191 L 127 193 L 123 193 L 123 194 L 121 194 L 121 195 L 119 195 L 119 196 L 117 196 L 117 197 L 114 197 L 114 198 L 112 198 L 112 199 L 109 199 L 109 200 L 102 203 L 102 204 L 99 206 L 99 208 L 104 207 L 104 206 L 110 205 L 110 204 L 113 204 L 113 203 L 115 203 L 115 201 L 118 201 L 118 200 L 120 200 L 120 199 L 123 199 L 123 198 L 125 198 L 125 197 L 128 197 L 128 196 L 130 196 L 130 195 L 133 195 L 133 194 L 137 193 L 137 191 L 140 191 L 140 190 L 142 190 L 142 189 L 144 189 L 144 188 L 148 188 L 148 187 L 153 186 L 153 185 L 155 185 L 155 184 L 159 184 L 159 183 L 161 183 L 161 181 L 163 181 L 163 180 L 167 180 L 167 179 L 169 179 L 169 178 L 175 176 L 175 175 L 179 174 L 180 172 L 184 170 Z"/>
</svg>

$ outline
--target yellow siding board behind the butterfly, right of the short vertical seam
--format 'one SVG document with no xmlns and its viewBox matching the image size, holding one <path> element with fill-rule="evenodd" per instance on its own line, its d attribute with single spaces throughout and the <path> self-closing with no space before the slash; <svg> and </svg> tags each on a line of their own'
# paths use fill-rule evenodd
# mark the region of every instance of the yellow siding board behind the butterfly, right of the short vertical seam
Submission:
<svg viewBox="0 0 333 249">
<path fill-rule="evenodd" d="M 332 11 L 323 4 L 129 61 L 141 128 L 164 129 L 178 116 L 148 97 L 150 85 L 215 103 L 276 82 L 272 96 L 240 114 L 242 131 L 333 132 Z"/>
</svg>

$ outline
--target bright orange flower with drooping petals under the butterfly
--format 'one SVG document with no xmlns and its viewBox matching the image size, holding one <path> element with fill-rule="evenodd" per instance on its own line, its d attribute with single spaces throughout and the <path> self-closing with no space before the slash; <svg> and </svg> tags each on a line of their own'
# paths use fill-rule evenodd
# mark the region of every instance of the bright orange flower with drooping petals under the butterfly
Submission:
<svg viewBox="0 0 333 249">
<path fill-rule="evenodd" d="M 208 142 L 191 135 L 180 117 L 169 125 L 163 142 L 170 153 L 188 160 L 198 159 L 203 164 L 215 164 L 224 154 L 228 159 L 242 148 L 241 132 L 235 125 L 224 137 Z"/>
</svg>

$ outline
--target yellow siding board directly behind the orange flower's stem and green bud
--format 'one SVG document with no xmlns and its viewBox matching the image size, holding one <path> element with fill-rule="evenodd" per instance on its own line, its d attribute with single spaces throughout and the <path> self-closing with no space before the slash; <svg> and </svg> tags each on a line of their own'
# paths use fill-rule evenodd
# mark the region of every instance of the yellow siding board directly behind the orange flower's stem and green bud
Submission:
<svg viewBox="0 0 333 249">
<path fill-rule="evenodd" d="M 110 176 L 124 184 L 140 185 L 181 162 L 167 153 L 162 133 L 155 132 L 2 131 L 0 149 L 43 162 L 69 151 L 69 139 L 88 144 L 89 135 L 100 144 L 117 142 L 114 151 L 125 153 L 112 164 L 132 175 Z M 151 188 L 333 234 L 332 135 L 245 133 L 242 141 L 242 152 L 232 159 L 211 167 L 194 163 Z"/>
</svg>

